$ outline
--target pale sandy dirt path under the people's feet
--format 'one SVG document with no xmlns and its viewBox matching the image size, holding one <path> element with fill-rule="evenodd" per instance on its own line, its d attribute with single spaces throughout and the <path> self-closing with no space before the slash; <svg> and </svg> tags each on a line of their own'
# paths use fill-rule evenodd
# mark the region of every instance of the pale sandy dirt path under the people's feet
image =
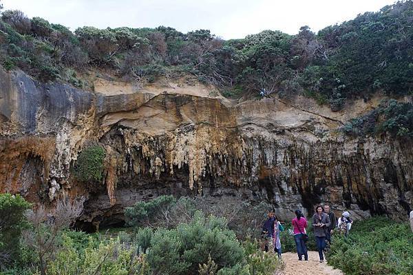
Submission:
<svg viewBox="0 0 413 275">
<path fill-rule="evenodd" d="M 339 269 L 332 269 L 326 262 L 319 263 L 318 252 L 309 251 L 308 261 L 298 261 L 296 253 L 286 252 L 282 254 L 286 268 L 284 275 L 343 275 Z"/>
</svg>

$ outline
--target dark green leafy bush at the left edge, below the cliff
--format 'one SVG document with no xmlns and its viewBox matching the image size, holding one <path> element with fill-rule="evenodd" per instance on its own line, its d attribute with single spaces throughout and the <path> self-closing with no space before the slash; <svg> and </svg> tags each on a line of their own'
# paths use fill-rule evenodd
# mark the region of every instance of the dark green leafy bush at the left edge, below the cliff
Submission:
<svg viewBox="0 0 413 275">
<path fill-rule="evenodd" d="M 24 213 L 30 203 L 19 194 L 0 194 L 0 269 L 19 254 L 21 231 L 28 227 Z"/>
</svg>

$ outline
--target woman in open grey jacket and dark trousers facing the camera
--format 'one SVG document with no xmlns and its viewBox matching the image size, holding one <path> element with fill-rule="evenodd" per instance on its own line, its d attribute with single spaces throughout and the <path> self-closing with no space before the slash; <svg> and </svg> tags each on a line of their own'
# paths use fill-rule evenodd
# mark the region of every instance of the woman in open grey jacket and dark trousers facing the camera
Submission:
<svg viewBox="0 0 413 275">
<path fill-rule="evenodd" d="M 324 213 L 321 205 L 315 208 L 315 214 L 312 218 L 314 229 L 315 243 L 319 252 L 320 263 L 324 262 L 324 248 L 326 248 L 326 230 L 330 227 L 330 218 L 328 214 Z"/>
</svg>

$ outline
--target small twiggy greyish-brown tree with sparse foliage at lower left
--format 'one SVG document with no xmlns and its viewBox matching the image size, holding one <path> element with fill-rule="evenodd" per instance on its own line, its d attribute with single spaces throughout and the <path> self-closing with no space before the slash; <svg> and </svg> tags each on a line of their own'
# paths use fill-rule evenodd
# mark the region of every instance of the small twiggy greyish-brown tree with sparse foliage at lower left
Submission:
<svg viewBox="0 0 413 275">
<path fill-rule="evenodd" d="M 47 263 L 59 246 L 61 231 L 70 227 L 82 210 L 83 200 L 72 203 L 58 201 L 54 212 L 48 212 L 44 205 L 39 205 L 26 214 L 32 228 L 23 232 L 23 242 L 39 257 L 41 275 L 46 275 Z"/>
</svg>

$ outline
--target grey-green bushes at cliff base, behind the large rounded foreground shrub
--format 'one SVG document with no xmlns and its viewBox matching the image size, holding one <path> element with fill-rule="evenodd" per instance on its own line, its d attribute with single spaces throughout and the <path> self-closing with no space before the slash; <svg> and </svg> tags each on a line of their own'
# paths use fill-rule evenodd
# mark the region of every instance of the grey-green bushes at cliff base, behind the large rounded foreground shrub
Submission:
<svg viewBox="0 0 413 275">
<path fill-rule="evenodd" d="M 173 196 L 158 196 L 150 201 L 140 201 L 127 207 L 125 217 L 131 226 L 176 227 L 180 223 L 189 223 L 197 210 L 207 216 L 225 218 L 230 230 L 238 238 L 252 236 L 259 238 L 261 226 L 271 205 L 260 203 L 251 205 L 240 200 L 225 200 L 211 203 L 207 198 L 181 197 L 178 201 Z"/>
</svg>

